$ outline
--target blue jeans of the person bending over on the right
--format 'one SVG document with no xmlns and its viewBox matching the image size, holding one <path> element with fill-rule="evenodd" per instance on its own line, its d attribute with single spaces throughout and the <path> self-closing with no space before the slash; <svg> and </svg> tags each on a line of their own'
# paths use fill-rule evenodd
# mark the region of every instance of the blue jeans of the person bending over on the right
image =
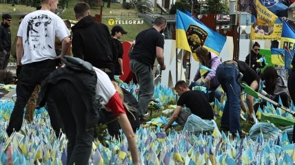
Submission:
<svg viewBox="0 0 295 165">
<path fill-rule="evenodd" d="M 221 118 L 221 127 L 230 129 L 231 133 L 241 132 L 240 126 L 240 93 L 241 88 L 236 79 L 238 77 L 238 67 L 234 64 L 222 63 L 216 69 L 216 76 L 221 87 L 226 93 L 227 100 Z"/>
</svg>

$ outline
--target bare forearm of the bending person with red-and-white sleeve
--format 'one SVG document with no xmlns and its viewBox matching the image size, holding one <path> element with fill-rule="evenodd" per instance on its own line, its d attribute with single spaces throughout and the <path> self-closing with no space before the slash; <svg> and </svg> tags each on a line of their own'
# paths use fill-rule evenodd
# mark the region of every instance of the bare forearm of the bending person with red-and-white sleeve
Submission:
<svg viewBox="0 0 295 165">
<path fill-rule="evenodd" d="M 139 151 L 137 151 L 135 135 L 133 133 L 133 130 L 127 118 L 127 115 L 125 113 L 119 113 L 118 122 L 121 128 L 123 129 L 124 134 L 127 137 L 128 147 L 131 152 L 132 162 L 134 164 L 139 164 Z"/>
</svg>

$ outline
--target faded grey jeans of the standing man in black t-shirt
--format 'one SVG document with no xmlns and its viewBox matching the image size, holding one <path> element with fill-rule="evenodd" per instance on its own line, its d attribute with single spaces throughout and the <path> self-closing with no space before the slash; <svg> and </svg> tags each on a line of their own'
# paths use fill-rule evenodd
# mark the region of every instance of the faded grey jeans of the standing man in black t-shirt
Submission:
<svg viewBox="0 0 295 165">
<path fill-rule="evenodd" d="M 134 59 L 130 60 L 130 68 L 139 83 L 139 117 L 143 118 L 154 95 L 154 75 L 150 66 Z"/>
</svg>

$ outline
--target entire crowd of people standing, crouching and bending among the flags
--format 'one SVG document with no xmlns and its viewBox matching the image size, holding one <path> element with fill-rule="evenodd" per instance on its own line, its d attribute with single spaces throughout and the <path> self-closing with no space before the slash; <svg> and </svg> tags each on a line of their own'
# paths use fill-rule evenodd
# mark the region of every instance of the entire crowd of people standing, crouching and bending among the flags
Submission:
<svg viewBox="0 0 295 165">
<path fill-rule="evenodd" d="M 6 69 L 10 51 L 15 49 L 17 58 L 17 100 L 6 129 L 8 136 L 20 131 L 23 113 L 32 122 L 35 104 L 45 106 L 50 115 L 52 129 L 65 133 L 68 138 L 67 164 L 88 164 L 94 139 L 94 125 L 108 122 L 110 135 L 118 136 L 119 129 L 125 133 L 134 164 L 139 164 L 139 153 L 134 132 L 145 122 L 148 105 L 154 95 L 153 67 L 155 60 L 161 70 L 164 63 L 164 32 L 167 21 L 163 17 L 154 20 L 152 28 L 137 34 L 130 51 L 130 68 L 139 83 L 138 101 L 132 94 L 119 87 L 114 76 L 123 75 L 123 46 L 120 39 L 127 32 L 115 25 L 110 33 L 107 25 L 95 22 L 90 16 L 88 3 L 74 6 L 78 21 L 70 28 L 69 21 L 63 21 L 54 14 L 58 0 L 41 0 L 41 9 L 19 19 L 16 46 L 11 48 L 10 23 L 12 17 L 3 14 L 0 26 L 0 69 Z M 70 32 L 70 30 L 72 32 Z M 68 47 L 72 44 L 72 56 Z M 227 96 L 221 118 L 221 129 L 232 135 L 241 135 L 241 109 L 254 123 L 254 98 L 247 95 L 243 101 L 241 82 L 255 91 L 261 83 L 265 88 L 263 96 L 278 101 L 285 107 L 289 98 L 295 102 L 295 73 L 289 74 L 288 83 L 279 76 L 274 67 L 265 67 L 259 54 L 260 45 L 254 43 L 251 53 L 244 61 L 224 61 L 198 47 L 194 52 L 201 65 L 212 69 L 201 74 L 200 69 L 190 86 L 185 81 L 176 83 L 174 90 L 179 94 L 176 109 L 165 125 L 168 129 L 174 121 L 184 125 L 190 113 L 203 120 L 213 120 L 210 102 L 221 100 L 221 88 Z M 63 67 L 61 67 L 63 65 Z M 293 58 L 292 65 L 295 66 Z M 195 83 L 198 82 L 198 83 Z M 41 86 L 40 86 L 41 85 Z M 207 87 L 207 93 L 192 90 L 192 86 Z M 41 88 L 40 88 L 41 87 Z M 288 90 L 289 89 L 289 90 Z M 37 93 L 39 93 L 38 102 Z M 32 105 L 30 106 L 30 102 Z M 261 103 L 261 106 L 265 104 Z M 33 108 L 30 108 L 33 107 Z M 186 107 L 190 113 L 183 111 Z M 28 113 L 28 114 L 27 114 Z M 114 120 L 114 122 L 110 122 Z M 295 140 L 295 138 L 293 139 Z"/>
</svg>

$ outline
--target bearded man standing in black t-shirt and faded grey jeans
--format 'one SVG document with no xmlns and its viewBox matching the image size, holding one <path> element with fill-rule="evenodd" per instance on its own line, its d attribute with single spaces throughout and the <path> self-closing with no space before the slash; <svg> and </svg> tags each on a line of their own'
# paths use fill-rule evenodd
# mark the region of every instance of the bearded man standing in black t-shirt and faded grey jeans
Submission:
<svg viewBox="0 0 295 165">
<path fill-rule="evenodd" d="M 139 83 L 139 117 L 143 120 L 148 104 L 154 94 L 154 67 L 155 59 L 165 70 L 163 47 L 164 37 L 162 33 L 166 28 L 166 20 L 158 17 L 154 25 L 148 30 L 143 30 L 136 36 L 135 45 L 130 54 L 130 68 Z"/>
</svg>

